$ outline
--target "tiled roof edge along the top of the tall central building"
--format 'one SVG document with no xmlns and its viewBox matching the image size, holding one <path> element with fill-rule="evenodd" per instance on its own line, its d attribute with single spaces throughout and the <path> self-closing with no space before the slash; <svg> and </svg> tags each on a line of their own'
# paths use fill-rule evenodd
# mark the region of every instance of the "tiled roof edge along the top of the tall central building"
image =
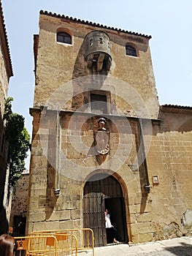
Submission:
<svg viewBox="0 0 192 256">
<path fill-rule="evenodd" d="M 56 13 L 53 13 L 53 12 L 47 12 L 47 11 L 41 10 L 39 13 L 41 15 L 48 15 L 48 16 L 52 16 L 52 17 L 55 17 L 55 18 L 64 18 L 66 20 L 72 20 L 73 22 L 76 22 L 76 23 L 82 23 L 82 24 L 85 24 L 85 25 L 88 25 L 88 26 L 95 26 L 95 27 L 101 28 L 101 29 L 111 29 L 111 30 L 115 30 L 115 31 L 118 31 L 118 32 L 123 32 L 123 33 L 126 33 L 126 34 L 134 34 L 135 36 L 145 37 L 147 39 L 151 38 L 151 36 L 147 36 L 145 34 L 139 34 L 139 33 L 131 32 L 131 31 L 126 31 L 126 30 L 123 30 L 123 29 L 113 28 L 113 27 L 110 27 L 110 26 L 104 26 L 104 25 L 99 24 L 99 23 L 93 23 L 93 22 L 88 21 L 88 20 L 80 20 L 80 19 L 77 19 L 77 18 L 72 18 L 72 17 L 69 17 L 69 16 L 60 15 L 60 14 L 56 14 Z"/>
</svg>

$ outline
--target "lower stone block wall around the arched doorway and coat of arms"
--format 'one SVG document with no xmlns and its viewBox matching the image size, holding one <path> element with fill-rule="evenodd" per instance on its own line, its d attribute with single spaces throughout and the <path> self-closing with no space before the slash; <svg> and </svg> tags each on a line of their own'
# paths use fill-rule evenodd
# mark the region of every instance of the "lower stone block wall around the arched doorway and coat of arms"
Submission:
<svg viewBox="0 0 192 256">
<path fill-rule="evenodd" d="M 36 114 L 36 118 L 39 115 Z M 31 192 L 34 191 L 28 211 L 31 230 L 44 230 L 50 224 L 55 229 L 82 227 L 80 195 L 87 178 L 101 168 L 91 155 L 96 116 L 78 113 L 74 117 L 72 113 L 63 112 L 60 117 L 59 173 L 55 173 L 56 113 L 47 111 L 40 122 L 34 122 L 38 127 L 34 127 L 37 134 L 31 152 L 36 173 L 31 176 Z M 161 117 L 162 120 L 143 121 L 142 126 L 151 186 L 148 195 L 144 189 L 145 173 L 138 165 L 137 118 L 109 118 L 110 155 L 102 168 L 115 171 L 118 181 L 123 180 L 120 184 L 125 186 L 129 239 L 134 243 L 184 235 L 181 219 L 185 210 L 191 208 L 191 132 L 166 132 L 169 123 L 164 123 Z M 174 117 L 177 119 L 177 115 Z M 82 120 L 86 121 L 82 124 Z M 58 177 L 61 195 L 55 199 L 53 191 Z M 154 177 L 158 177 L 157 183 Z"/>
</svg>

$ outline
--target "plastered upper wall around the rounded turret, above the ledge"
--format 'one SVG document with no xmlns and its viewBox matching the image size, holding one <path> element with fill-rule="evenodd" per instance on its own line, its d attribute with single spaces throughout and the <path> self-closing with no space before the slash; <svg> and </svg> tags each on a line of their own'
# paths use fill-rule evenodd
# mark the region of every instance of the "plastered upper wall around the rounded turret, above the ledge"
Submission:
<svg viewBox="0 0 192 256">
<path fill-rule="evenodd" d="M 90 78 L 92 73 L 85 61 L 84 40 L 90 31 L 98 28 L 49 15 L 40 15 L 39 24 L 38 56 L 41 58 L 37 58 L 34 108 L 46 105 L 60 110 L 77 110 L 82 104 L 72 109 L 71 100 L 78 91 L 99 89 L 111 91 L 111 103 L 118 114 L 131 112 L 131 116 L 157 118 L 158 99 L 147 37 L 101 29 L 110 37 L 112 67 L 108 74 L 96 74 L 103 76 L 98 84 L 96 78 Z M 72 45 L 56 42 L 58 29 L 70 31 Z M 138 58 L 126 56 L 127 42 L 135 45 Z"/>
</svg>

